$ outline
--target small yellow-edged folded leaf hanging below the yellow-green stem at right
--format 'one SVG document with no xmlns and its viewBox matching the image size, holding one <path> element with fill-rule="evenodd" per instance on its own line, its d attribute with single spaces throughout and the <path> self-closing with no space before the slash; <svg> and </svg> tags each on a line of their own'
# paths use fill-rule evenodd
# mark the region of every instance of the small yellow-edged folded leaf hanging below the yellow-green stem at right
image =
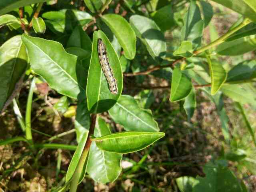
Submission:
<svg viewBox="0 0 256 192">
<path fill-rule="evenodd" d="M 217 60 L 208 59 L 208 64 L 211 74 L 211 94 L 214 95 L 226 81 L 227 73 Z"/>
</svg>

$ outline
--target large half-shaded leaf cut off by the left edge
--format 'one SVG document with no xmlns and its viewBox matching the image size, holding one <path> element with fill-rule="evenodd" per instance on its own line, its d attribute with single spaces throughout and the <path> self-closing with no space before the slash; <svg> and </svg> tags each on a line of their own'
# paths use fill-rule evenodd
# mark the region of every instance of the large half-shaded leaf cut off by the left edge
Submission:
<svg viewBox="0 0 256 192">
<path fill-rule="evenodd" d="M 26 47 L 21 36 L 14 36 L 0 47 L 0 110 L 9 97 L 18 93 L 16 84 L 24 74 L 28 64 Z M 18 85 L 18 84 L 17 84 Z M 13 98 L 12 98 L 13 99 Z M 10 102 L 12 102 L 12 99 Z"/>
</svg>

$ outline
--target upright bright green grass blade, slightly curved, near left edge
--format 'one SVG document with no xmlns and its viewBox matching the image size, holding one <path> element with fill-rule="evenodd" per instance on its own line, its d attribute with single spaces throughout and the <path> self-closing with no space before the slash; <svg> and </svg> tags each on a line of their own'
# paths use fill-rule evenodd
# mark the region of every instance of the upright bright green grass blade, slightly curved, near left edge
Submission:
<svg viewBox="0 0 256 192">
<path fill-rule="evenodd" d="M 31 107 L 32 107 L 32 98 L 33 98 L 35 85 L 36 85 L 36 77 L 33 77 L 30 84 L 27 106 L 26 106 L 26 139 L 31 145 L 33 145 L 32 133 L 31 133 Z"/>
</svg>

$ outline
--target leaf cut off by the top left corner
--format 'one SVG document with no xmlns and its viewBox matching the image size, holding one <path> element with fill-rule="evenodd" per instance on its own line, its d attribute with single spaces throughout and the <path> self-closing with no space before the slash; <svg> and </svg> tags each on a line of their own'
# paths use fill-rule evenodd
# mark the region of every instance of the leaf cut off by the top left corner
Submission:
<svg viewBox="0 0 256 192">
<path fill-rule="evenodd" d="M 0 15 L 8 13 L 16 8 L 24 7 L 26 5 L 45 2 L 46 0 L 1 0 L 0 1 Z"/>
</svg>

